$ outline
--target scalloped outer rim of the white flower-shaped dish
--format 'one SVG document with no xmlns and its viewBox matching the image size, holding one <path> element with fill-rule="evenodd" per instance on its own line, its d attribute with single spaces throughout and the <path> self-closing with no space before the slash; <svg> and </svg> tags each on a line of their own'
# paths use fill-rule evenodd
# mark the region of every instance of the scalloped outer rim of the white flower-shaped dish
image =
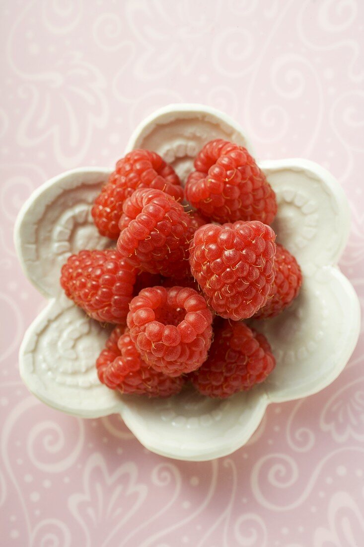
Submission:
<svg viewBox="0 0 364 547">
<path fill-rule="evenodd" d="M 144 119 L 137 127 L 137 129 L 132 133 L 131 138 L 128 141 L 127 144 L 127 151 L 132 148 L 133 142 L 136 142 L 137 138 L 143 134 L 143 131 L 145 127 L 148 127 L 148 125 L 155 120 L 155 118 L 158 118 L 158 116 L 164 116 L 169 115 L 171 112 L 174 112 L 173 108 L 177 112 L 190 112 L 191 110 L 193 112 L 201 112 L 202 113 L 209 113 L 212 115 L 215 115 L 217 117 L 220 117 L 222 121 L 229 124 L 231 127 L 236 129 L 237 131 L 241 131 L 241 128 L 239 127 L 234 120 L 232 120 L 230 117 L 228 117 L 225 114 L 220 113 L 218 110 L 215 110 L 213 108 L 207 108 L 203 107 L 202 105 L 198 104 L 177 104 L 177 105 L 171 105 L 168 107 L 164 107 L 160 110 L 157 110 L 155 113 L 151 114 L 148 118 Z M 202 110 L 203 108 L 203 110 Z M 246 139 L 248 142 L 248 139 Z M 131 148 L 130 148 L 131 147 Z M 320 177 L 322 181 L 325 182 L 327 187 L 330 189 L 330 193 L 334 200 L 336 200 L 339 211 L 340 211 L 340 234 L 341 234 L 341 240 L 340 245 L 337 248 L 336 253 L 336 259 L 333 261 L 332 264 L 327 265 L 327 269 L 331 269 L 333 274 L 338 276 L 338 279 L 340 281 L 340 284 L 345 290 L 345 294 L 347 295 L 347 305 L 350 307 L 351 313 L 350 317 L 352 319 L 351 324 L 351 330 L 350 330 L 350 336 L 348 337 L 347 344 L 342 348 L 342 355 L 340 357 L 340 360 L 337 362 L 336 366 L 331 370 L 330 377 L 326 377 L 325 382 L 318 383 L 313 389 L 310 391 L 305 391 L 303 393 L 292 392 L 291 395 L 286 394 L 285 396 L 272 396 L 269 393 L 265 391 L 265 389 L 261 390 L 261 395 L 259 399 L 259 403 L 256 404 L 253 417 L 250 418 L 250 430 L 245 433 L 244 437 L 238 434 L 234 438 L 228 438 L 224 439 L 222 441 L 222 444 L 220 444 L 218 447 L 215 447 L 213 449 L 209 444 L 207 444 L 204 449 L 201 449 L 201 447 L 198 449 L 198 451 L 195 449 L 192 449 L 191 447 L 185 447 L 184 449 L 181 447 L 180 453 L 177 455 L 176 451 L 173 451 L 173 446 L 175 447 L 175 443 L 173 441 L 169 442 L 166 439 L 155 439 L 155 436 L 153 436 L 152 432 L 148 430 L 148 428 L 143 428 L 143 424 L 138 421 L 138 417 L 134 416 L 133 411 L 131 408 L 129 408 L 124 401 L 120 400 L 120 403 L 115 403 L 113 407 L 110 406 L 110 410 L 107 413 L 99 414 L 98 416 L 105 416 L 108 414 L 112 414 L 113 412 L 119 412 L 123 420 L 125 421 L 126 425 L 130 427 L 133 434 L 140 440 L 140 442 L 146 446 L 149 450 L 156 452 L 162 456 L 167 456 L 171 458 L 176 459 L 187 459 L 187 460 L 193 460 L 193 461 L 205 461 L 207 459 L 213 459 L 215 457 L 222 457 L 226 456 L 227 454 L 233 452 L 234 450 L 237 450 L 239 447 L 243 446 L 246 441 L 253 435 L 256 428 L 259 426 L 259 423 L 262 419 L 262 416 L 267 408 L 267 405 L 272 402 L 280 402 L 280 401 L 287 401 L 287 400 L 293 400 L 298 399 L 301 397 L 306 397 L 310 394 L 314 394 L 316 392 L 321 391 L 321 389 L 327 387 L 330 385 L 332 381 L 334 381 L 337 376 L 340 374 L 340 372 L 343 370 L 345 364 L 347 364 L 348 359 L 350 358 L 351 353 L 354 351 L 357 339 L 359 337 L 360 333 L 360 304 L 359 299 L 357 298 L 357 295 L 355 293 L 355 290 L 353 286 L 351 285 L 350 281 L 345 277 L 342 272 L 339 270 L 339 267 L 337 266 L 337 261 L 340 257 L 340 254 L 342 253 L 349 236 L 349 228 L 350 228 L 350 211 L 349 211 L 349 205 L 347 202 L 347 197 L 344 194 L 343 189 L 340 187 L 336 179 L 332 176 L 330 172 L 328 172 L 325 168 L 319 166 L 318 164 L 315 164 L 312 161 L 304 160 L 304 159 L 286 159 L 286 160 L 266 160 L 263 162 L 259 162 L 259 165 L 261 168 L 264 168 L 265 170 L 269 170 L 269 168 L 277 168 L 277 167 L 297 167 L 297 168 L 307 168 Z M 26 383 L 27 387 L 30 389 L 30 391 L 36 395 L 39 399 L 44 401 L 44 403 L 53 406 L 54 408 L 57 408 L 58 410 L 61 410 L 63 412 L 66 412 L 67 414 L 72 414 L 75 416 L 80 416 L 80 412 L 72 412 L 69 408 L 62 408 L 60 404 L 54 404 L 54 401 L 52 399 L 48 399 L 44 396 L 44 394 L 40 394 L 39 391 L 36 389 L 36 385 L 33 383 L 34 381 L 37 381 L 36 377 L 33 377 L 32 380 L 30 380 L 30 377 L 27 376 L 25 373 L 24 368 L 24 350 L 26 346 L 28 345 L 31 337 L 34 334 L 34 328 L 36 327 L 36 323 L 40 320 L 42 320 L 43 317 L 47 316 L 48 310 L 52 303 L 56 301 L 55 295 L 50 295 L 46 293 L 45 290 L 40 288 L 34 280 L 29 275 L 29 272 L 26 268 L 26 261 L 24 259 L 24 256 L 22 254 L 22 241 L 21 241 L 21 225 L 24 221 L 24 218 L 26 217 L 26 214 L 30 210 L 30 208 L 33 206 L 34 202 L 40 197 L 44 191 L 56 186 L 65 176 L 69 174 L 80 174 L 80 173 L 102 173 L 104 175 L 107 175 L 111 172 L 111 169 L 105 168 L 105 167 L 80 167 L 77 169 L 69 170 L 66 172 L 63 172 L 55 177 L 52 177 L 47 182 L 42 184 L 39 188 L 34 190 L 32 195 L 26 200 L 24 205 L 21 207 L 21 210 L 16 218 L 15 226 L 14 226 L 14 242 L 15 242 L 15 248 L 17 251 L 17 255 L 19 257 L 22 269 L 24 270 L 24 273 L 26 277 L 31 281 L 31 283 L 39 290 L 40 293 L 42 293 L 46 299 L 48 299 L 48 304 L 45 306 L 45 309 L 42 310 L 38 316 L 34 319 L 30 327 L 28 327 L 24 339 L 22 340 L 21 346 L 20 346 L 20 352 L 19 352 L 19 358 L 20 358 L 20 374 L 22 377 L 22 380 Z M 96 414 L 93 415 L 95 417 Z M 85 416 L 90 417 L 90 416 Z"/>
</svg>

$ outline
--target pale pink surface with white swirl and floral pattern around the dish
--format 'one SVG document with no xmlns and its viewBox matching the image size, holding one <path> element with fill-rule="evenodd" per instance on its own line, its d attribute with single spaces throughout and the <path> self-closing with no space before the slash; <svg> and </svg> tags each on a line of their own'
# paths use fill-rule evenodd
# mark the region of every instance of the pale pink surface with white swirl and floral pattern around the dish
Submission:
<svg viewBox="0 0 364 547">
<path fill-rule="evenodd" d="M 118 417 L 79 420 L 22 385 L 17 350 L 44 305 L 13 224 L 46 179 L 112 166 L 156 107 L 201 102 L 259 158 L 329 168 L 353 213 L 341 266 L 364 302 L 363 2 L 6 0 L 0 108 L 2 545 L 359 547 L 364 538 L 364 335 L 321 393 L 271 405 L 232 456 L 184 463 Z"/>
</svg>

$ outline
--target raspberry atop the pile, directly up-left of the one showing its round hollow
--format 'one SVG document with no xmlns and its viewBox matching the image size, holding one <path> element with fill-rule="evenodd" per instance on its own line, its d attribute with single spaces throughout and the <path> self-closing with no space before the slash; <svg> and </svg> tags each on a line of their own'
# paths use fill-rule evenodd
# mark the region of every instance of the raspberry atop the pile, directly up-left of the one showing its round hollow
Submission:
<svg viewBox="0 0 364 547">
<path fill-rule="evenodd" d="M 193 228 L 180 203 L 161 190 L 136 190 L 124 202 L 118 251 L 151 274 L 181 278 L 189 274 Z"/>
</svg>

